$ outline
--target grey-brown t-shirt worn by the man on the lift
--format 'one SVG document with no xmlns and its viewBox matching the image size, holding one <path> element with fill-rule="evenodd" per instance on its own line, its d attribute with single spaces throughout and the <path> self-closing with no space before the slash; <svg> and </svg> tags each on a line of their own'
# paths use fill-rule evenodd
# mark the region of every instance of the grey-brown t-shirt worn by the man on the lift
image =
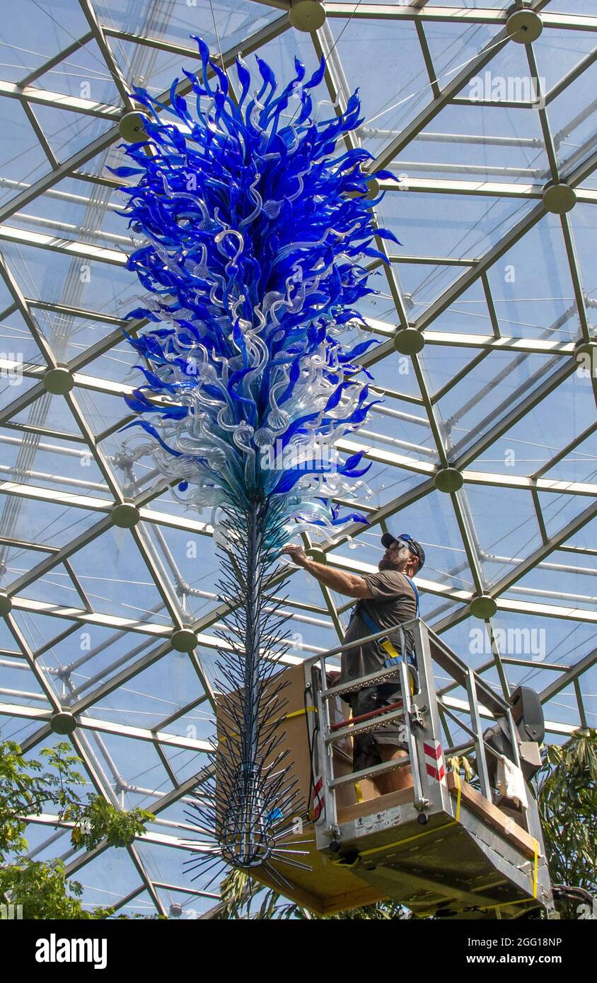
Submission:
<svg viewBox="0 0 597 983">
<path fill-rule="evenodd" d="M 361 601 L 360 604 L 366 606 L 368 614 L 380 629 L 395 628 L 396 624 L 416 617 L 415 593 L 403 573 L 398 573 L 397 570 L 380 570 L 378 573 L 366 574 L 363 579 L 367 581 L 373 598 Z M 357 638 L 364 638 L 371 634 L 373 632 L 360 616 L 357 608 L 346 629 L 344 642 L 354 642 Z M 410 632 L 405 634 L 409 651 L 412 646 L 412 635 Z M 388 631 L 388 638 L 396 650 L 400 651 L 400 633 Z M 358 645 L 347 652 L 342 652 L 340 677 L 337 681 L 349 682 L 370 672 L 377 672 L 378 669 L 384 668 L 386 658 L 378 642 L 367 642 L 365 645 Z M 350 702 L 350 696 L 346 694 L 343 699 Z"/>
</svg>

